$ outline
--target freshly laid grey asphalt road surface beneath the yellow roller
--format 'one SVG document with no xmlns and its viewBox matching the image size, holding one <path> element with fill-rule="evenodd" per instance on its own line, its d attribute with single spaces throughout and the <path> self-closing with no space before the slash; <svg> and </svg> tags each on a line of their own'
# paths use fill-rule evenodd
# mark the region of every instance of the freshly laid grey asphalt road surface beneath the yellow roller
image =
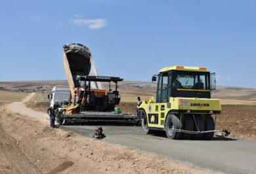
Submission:
<svg viewBox="0 0 256 174">
<path fill-rule="evenodd" d="M 93 137 L 98 126 L 100 125 L 61 128 Z M 110 143 L 135 147 L 211 171 L 256 173 L 256 141 L 219 137 L 214 137 L 211 141 L 171 140 L 164 133 L 144 135 L 139 126 L 102 125 L 102 128 L 106 135 L 103 140 Z"/>
</svg>

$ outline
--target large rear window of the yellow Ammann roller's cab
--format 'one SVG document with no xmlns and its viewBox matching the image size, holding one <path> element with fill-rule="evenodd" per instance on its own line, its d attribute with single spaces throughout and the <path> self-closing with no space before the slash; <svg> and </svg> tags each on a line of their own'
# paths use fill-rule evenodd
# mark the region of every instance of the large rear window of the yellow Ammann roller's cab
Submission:
<svg viewBox="0 0 256 174">
<path fill-rule="evenodd" d="M 194 71 L 175 71 L 172 80 L 173 88 L 209 90 L 209 73 Z"/>
</svg>

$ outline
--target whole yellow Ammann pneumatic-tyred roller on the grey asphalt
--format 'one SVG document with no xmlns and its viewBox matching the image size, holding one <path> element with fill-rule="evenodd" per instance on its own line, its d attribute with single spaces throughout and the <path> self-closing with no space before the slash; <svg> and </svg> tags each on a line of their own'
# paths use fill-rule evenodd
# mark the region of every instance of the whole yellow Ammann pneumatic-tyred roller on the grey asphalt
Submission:
<svg viewBox="0 0 256 174">
<path fill-rule="evenodd" d="M 221 113 L 221 101 L 211 99 L 215 73 L 205 67 L 165 67 L 152 81 L 158 81 L 156 96 L 139 107 L 144 133 L 163 130 L 170 139 L 213 137 L 211 115 Z"/>
</svg>

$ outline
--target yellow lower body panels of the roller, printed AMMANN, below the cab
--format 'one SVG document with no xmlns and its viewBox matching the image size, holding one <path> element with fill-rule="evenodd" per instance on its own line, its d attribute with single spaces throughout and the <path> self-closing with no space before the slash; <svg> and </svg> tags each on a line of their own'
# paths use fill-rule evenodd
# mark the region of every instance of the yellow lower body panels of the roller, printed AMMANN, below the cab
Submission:
<svg viewBox="0 0 256 174">
<path fill-rule="evenodd" d="M 209 114 L 209 111 L 221 111 L 221 101 L 219 99 L 170 97 L 168 103 L 156 103 L 156 97 L 152 97 L 148 101 L 142 101 L 139 109 L 146 112 L 149 127 L 164 128 L 165 118 L 169 111 Z"/>
</svg>

